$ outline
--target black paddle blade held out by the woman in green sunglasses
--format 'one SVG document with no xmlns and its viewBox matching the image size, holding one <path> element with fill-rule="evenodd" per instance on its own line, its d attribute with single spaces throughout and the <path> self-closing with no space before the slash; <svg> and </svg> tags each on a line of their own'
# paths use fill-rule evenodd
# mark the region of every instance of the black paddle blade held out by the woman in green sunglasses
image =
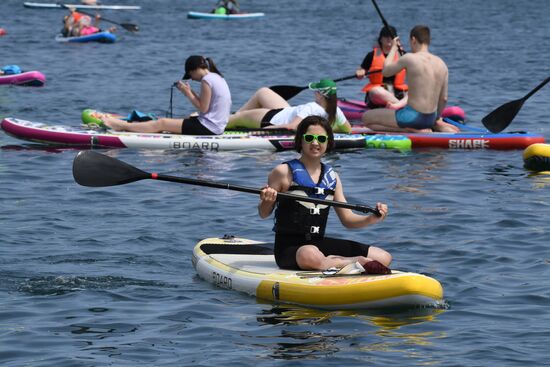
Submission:
<svg viewBox="0 0 550 367">
<path fill-rule="evenodd" d="M 82 186 L 104 187 L 151 178 L 151 174 L 118 159 L 86 150 L 79 152 L 73 161 L 73 177 Z"/>
</svg>

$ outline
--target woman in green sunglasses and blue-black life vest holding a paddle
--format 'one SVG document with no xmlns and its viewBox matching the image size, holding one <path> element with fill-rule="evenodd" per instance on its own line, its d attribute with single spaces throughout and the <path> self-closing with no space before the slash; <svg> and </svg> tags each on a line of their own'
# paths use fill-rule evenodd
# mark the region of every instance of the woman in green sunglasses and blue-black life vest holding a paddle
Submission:
<svg viewBox="0 0 550 367">
<path fill-rule="evenodd" d="M 275 209 L 275 261 L 283 269 L 326 270 L 348 264 L 360 265 L 370 273 L 386 274 L 392 256 L 385 250 L 355 241 L 325 237 L 330 206 L 297 200 L 277 200 L 277 192 L 345 202 L 342 182 L 321 158 L 332 149 L 334 135 L 320 116 L 304 118 L 296 129 L 295 149 L 301 155 L 276 166 L 261 190 L 258 214 L 267 218 Z M 362 228 L 388 215 L 386 204 L 377 203 L 380 216 L 360 215 L 335 207 L 346 228 Z M 356 264 L 356 263 L 359 264 Z"/>
</svg>

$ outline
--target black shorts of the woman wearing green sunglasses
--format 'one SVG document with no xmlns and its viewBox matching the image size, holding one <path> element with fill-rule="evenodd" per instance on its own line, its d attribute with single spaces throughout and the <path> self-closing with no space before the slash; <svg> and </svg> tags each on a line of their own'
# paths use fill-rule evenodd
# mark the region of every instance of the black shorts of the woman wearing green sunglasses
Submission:
<svg viewBox="0 0 550 367">
<path fill-rule="evenodd" d="M 338 238 L 318 238 L 306 240 L 304 236 L 275 234 L 275 261 L 281 269 L 300 270 L 296 262 L 296 251 L 304 245 L 315 245 L 325 256 L 336 255 L 355 257 L 369 255 L 369 245 L 341 240 Z"/>
</svg>

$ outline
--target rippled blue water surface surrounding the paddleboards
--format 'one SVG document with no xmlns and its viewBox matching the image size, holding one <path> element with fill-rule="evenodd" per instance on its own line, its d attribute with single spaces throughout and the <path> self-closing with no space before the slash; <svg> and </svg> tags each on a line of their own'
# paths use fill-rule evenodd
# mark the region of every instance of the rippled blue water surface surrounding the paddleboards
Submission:
<svg viewBox="0 0 550 367">
<path fill-rule="evenodd" d="M 187 20 L 199 0 L 120 0 L 104 12 L 136 23 L 113 45 L 54 41 L 62 10 L 0 2 L 0 64 L 41 70 L 40 89 L 0 89 L 0 117 L 76 125 L 84 108 L 164 114 L 190 54 L 212 57 L 235 107 L 262 85 L 353 73 L 381 23 L 368 1 L 242 1 L 261 20 Z M 450 69 L 450 103 L 470 123 L 548 76 L 546 1 L 379 1 L 402 38 L 433 28 Z M 361 98 L 361 82 L 339 85 Z M 548 88 L 548 87 L 547 87 Z M 548 89 L 510 130 L 550 138 Z M 293 102 L 312 98 L 307 91 Z M 175 97 L 175 113 L 191 112 Z M 74 150 L 0 133 L 2 366 L 542 366 L 550 340 L 550 179 L 529 175 L 521 151 L 356 151 L 327 157 L 350 202 L 387 202 L 388 219 L 329 232 L 382 246 L 394 268 L 445 289 L 444 310 L 323 312 L 216 289 L 191 265 L 202 238 L 270 240 L 252 195 L 142 181 L 90 189 L 71 175 Z M 260 187 L 294 153 L 109 150 L 149 171 Z"/>
</svg>

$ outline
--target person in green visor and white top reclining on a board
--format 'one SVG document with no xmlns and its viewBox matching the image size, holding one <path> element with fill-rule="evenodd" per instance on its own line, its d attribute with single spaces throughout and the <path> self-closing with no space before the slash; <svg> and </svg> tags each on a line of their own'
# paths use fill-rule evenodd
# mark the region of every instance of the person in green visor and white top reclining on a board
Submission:
<svg viewBox="0 0 550 367">
<path fill-rule="evenodd" d="M 271 89 L 260 88 L 229 117 L 227 129 L 296 130 L 302 119 L 315 115 L 328 119 L 335 132 L 351 132 L 350 123 L 337 106 L 336 83 L 330 79 L 321 79 L 318 83 L 310 83 L 309 89 L 315 91 L 315 102 L 290 106 L 283 97 Z"/>
</svg>

